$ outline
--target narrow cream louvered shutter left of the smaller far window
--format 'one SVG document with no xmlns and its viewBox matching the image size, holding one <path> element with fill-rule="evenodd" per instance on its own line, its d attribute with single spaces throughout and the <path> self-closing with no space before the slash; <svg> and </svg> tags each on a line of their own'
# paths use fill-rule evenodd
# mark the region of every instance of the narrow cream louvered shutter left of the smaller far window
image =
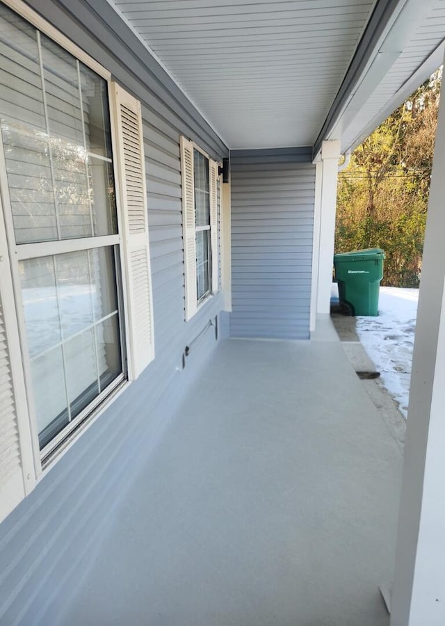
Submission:
<svg viewBox="0 0 445 626">
<path fill-rule="evenodd" d="M 186 320 L 197 309 L 195 179 L 193 176 L 193 142 L 181 137 L 182 229 L 184 234 L 184 282 Z"/>
</svg>

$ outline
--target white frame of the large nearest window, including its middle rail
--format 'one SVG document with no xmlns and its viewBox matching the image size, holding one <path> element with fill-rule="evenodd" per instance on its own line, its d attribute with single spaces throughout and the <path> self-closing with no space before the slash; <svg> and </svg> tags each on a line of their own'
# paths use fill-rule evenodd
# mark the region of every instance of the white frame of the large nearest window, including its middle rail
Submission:
<svg viewBox="0 0 445 626">
<path fill-rule="evenodd" d="M 17 330 L 19 335 L 20 350 L 10 355 L 11 361 L 14 362 L 16 370 L 22 370 L 24 378 L 24 389 L 26 390 L 26 416 L 23 418 L 19 415 L 19 419 L 24 419 L 29 424 L 31 433 L 31 447 L 33 454 L 33 465 L 36 479 L 51 467 L 55 460 L 77 440 L 77 438 L 86 430 L 99 415 L 104 412 L 108 406 L 122 393 L 136 376 L 131 372 L 129 367 L 130 353 L 130 311 L 127 296 L 128 289 L 128 267 L 127 259 L 125 259 L 125 250 L 123 246 L 123 207 L 121 202 L 121 182 L 123 172 L 119 167 L 118 157 L 118 111 L 115 106 L 113 97 L 113 81 L 111 72 L 106 70 L 102 65 L 97 63 L 95 59 L 90 57 L 81 48 L 76 46 L 72 41 L 55 29 L 51 24 L 46 22 L 42 17 L 34 12 L 29 6 L 24 4 L 22 0 L 2 0 L 3 3 L 13 10 L 17 15 L 22 17 L 47 35 L 51 40 L 63 47 L 76 60 L 81 61 L 93 72 L 106 81 L 106 93 L 108 95 L 108 113 L 110 117 L 111 131 L 111 154 L 113 160 L 113 177 L 115 186 L 115 203 L 116 203 L 116 219 L 118 233 L 105 236 L 79 237 L 78 239 L 62 239 L 54 241 L 43 241 L 36 243 L 16 243 L 15 230 L 13 224 L 13 212 L 10 205 L 10 189 L 8 184 L 8 176 L 6 172 L 6 161 L 3 152 L 3 142 L 0 141 L 0 187 L 2 189 L 3 200 L 0 198 L 0 210 L 3 211 L 3 217 L 6 227 L 6 240 L 8 242 L 8 256 L 10 264 L 10 275 L 13 283 L 13 291 L 15 296 L 15 315 L 17 318 Z M 19 262 L 29 258 L 46 257 L 55 254 L 63 254 L 65 252 L 74 252 L 76 250 L 88 250 L 93 248 L 102 248 L 105 246 L 113 246 L 114 250 L 118 248 L 118 254 L 115 253 L 115 284 L 118 294 L 118 315 L 120 328 L 120 351 L 122 355 L 122 372 L 114 380 L 93 399 L 86 408 L 81 410 L 74 419 L 65 426 L 54 438 L 40 449 L 38 439 L 38 424 L 33 406 L 32 376 L 31 376 L 31 358 L 26 342 L 26 325 L 24 320 L 24 308 L 22 303 L 22 287 L 19 276 Z M 38 254 L 35 254 L 35 252 Z M 118 258 L 117 258 L 118 257 Z M 151 277 L 149 277 L 151 280 Z M 23 403 L 23 405 L 25 404 Z"/>
</svg>

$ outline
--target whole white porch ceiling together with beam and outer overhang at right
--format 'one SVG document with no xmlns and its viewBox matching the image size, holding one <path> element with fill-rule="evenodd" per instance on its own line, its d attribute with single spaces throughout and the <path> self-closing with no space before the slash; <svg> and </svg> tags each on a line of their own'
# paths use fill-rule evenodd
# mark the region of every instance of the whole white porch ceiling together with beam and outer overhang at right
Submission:
<svg viewBox="0 0 445 626">
<path fill-rule="evenodd" d="M 108 1 L 232 150 L 355 147 L 442 63 L 445 0 Z"/>
</svg>

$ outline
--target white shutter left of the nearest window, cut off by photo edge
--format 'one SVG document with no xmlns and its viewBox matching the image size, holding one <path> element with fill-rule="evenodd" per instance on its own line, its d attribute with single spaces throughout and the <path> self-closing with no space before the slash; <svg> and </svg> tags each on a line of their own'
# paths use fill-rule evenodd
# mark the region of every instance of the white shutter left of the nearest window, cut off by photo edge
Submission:
<svg viewBox="0 0 445 626">
<path fill-rule="evenodd" d="M 0 522 L 35 484 L 13 285 L 0 206 Z"/>
</svg>

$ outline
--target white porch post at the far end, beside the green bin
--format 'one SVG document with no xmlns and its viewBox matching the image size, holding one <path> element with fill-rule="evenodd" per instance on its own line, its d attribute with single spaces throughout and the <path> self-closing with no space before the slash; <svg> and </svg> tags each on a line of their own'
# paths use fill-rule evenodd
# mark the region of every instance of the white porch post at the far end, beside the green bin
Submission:
<svg viewBox="0 0 445 626">
<path fill-rule="evenodd" d="M 332 258 L 334 257 L 335 211 L 337 209 L 337 175 L 339 171 L 340 142 L 323 141 L 321 147 L 321 168 L 316 170 L 316 176 L 321 177 L 319 193 L 319 218 L 315 217 L 315 224 L 319 224 L 318 246 L 314 238 L 314 250 L 318 248 L 318 276 L 316 278 L 316 313 L 329 314 L 332 290 Z M 317 187 L 317 182 L 316 182 Z M 314 289 L 314 280 L 312 282 Z"/>
</svg>

